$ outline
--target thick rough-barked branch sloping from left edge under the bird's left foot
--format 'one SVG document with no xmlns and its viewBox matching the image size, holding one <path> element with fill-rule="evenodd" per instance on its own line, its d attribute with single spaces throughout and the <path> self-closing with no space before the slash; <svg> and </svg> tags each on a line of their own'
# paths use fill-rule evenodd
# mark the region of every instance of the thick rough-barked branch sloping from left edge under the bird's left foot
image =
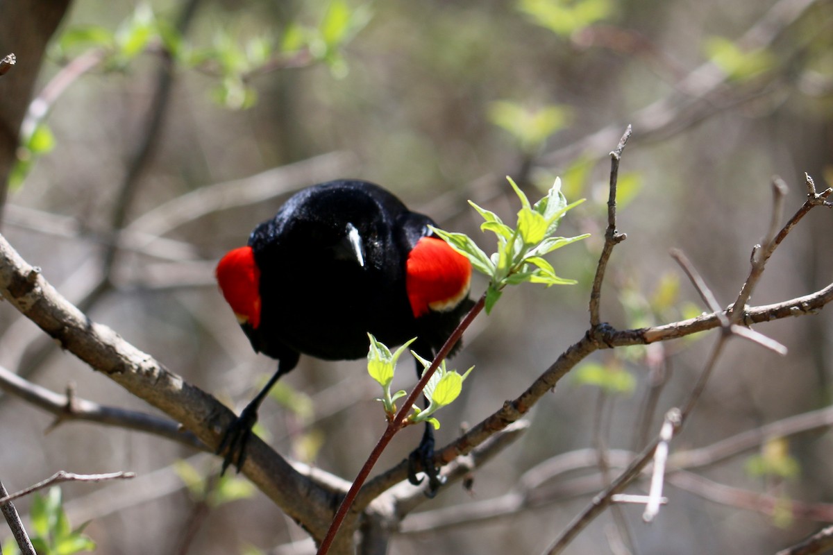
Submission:
<svg viewBox="0 0 833 555">
<path fill-rule="evenodd" d="M 222 430 L 234 419 L 231 410 L 107 326 L 89 320 L 2 236 L 0 293 L 63 349 L 182 423 L 209 448 L 217 448 Z M 326 531 L 332 493 L 298 473 L 256 437 L 250 442 L 242 472 L 288 515 L 304 523 L 313 536 L 321 537 Z"/>
</svg>

